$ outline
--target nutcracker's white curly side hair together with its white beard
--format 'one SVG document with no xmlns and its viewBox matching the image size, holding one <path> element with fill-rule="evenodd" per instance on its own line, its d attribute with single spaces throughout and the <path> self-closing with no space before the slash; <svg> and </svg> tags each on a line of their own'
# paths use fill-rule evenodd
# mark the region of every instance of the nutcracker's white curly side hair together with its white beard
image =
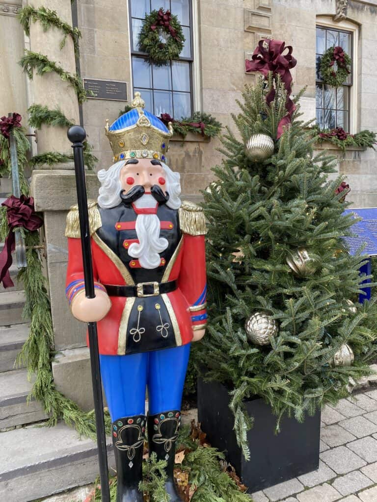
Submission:
<svg viewBox="0 0 377 502">
<path fill-rule="evenodd" d="M 180 207 L 180 174 L 174 173 L 166 164 L 162 163 L 165 173 L 165 190 L 169 194 L 166 205 L 171 209 Z M 102 169 L 98 172 L 101 182 L 98 204 L 103 209 L 110 209 L 121 203 L 120 192 L 122 184 L 120 180 L 121 169 L 124 161 L 117 162 L 107 171 Z M 136 207 L 155 207 L 156 200 L 151 194 L 144 194 L 134 202 Z M 133 242 L 128 248 L 128 254 L 139 260 L 144 269 L 156 269 L 160 266 L 162 253 L 168 246 L 168 241 L 160 237 L 160 220 L 157 214 L 138 214 L 136 218 L 136 235 L 139 242 Z"/>
</svg>

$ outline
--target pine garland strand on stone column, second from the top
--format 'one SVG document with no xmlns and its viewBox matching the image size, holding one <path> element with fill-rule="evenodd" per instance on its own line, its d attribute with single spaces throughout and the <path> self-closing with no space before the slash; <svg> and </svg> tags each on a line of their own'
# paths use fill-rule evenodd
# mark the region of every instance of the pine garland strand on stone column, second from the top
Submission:
<svg viewBox="0 0 377 502">
<path fill-rule="evenodd" d="M 68 81 L 74 88 L 80 104 L 86 101 L 87 94 L 79 77 L 65 71 L 54 61 L 50 61 L 44 54 L 32 52 L 26 49 L 25 56 L 23 56 L 20 60 L 20 65 L 30 79 L 33 79 L 33 70 L 36 70 L 38 75 L 43 75 L 44 73 L 49 73 L 51 71 L 57 73 L 63 81 Z"/>
</svg>

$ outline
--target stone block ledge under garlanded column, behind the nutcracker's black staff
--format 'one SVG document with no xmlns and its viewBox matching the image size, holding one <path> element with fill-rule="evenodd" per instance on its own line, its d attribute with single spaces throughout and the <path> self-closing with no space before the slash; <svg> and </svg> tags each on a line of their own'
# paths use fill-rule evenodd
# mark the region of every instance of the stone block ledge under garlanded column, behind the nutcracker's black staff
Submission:
<svg viewBox="0 0 377 502">
<path fill-rule="evenodd" d="M 97 200 L 100 182 L 92 172 L 85 173 L 88 199 Z M 31 193 L 36 211 L 68 211 L 77 204 L 74 171 L 51 169 L 33 171 Z"/>
</svg>

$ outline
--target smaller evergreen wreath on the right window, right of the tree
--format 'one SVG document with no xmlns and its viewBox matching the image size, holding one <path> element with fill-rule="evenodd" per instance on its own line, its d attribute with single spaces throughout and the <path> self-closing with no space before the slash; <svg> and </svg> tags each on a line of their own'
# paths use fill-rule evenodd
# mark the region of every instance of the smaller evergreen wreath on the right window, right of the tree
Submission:
<svg viewBox="0 0 377 502">
<path fill-rule="evenodd" d="M 334 65 L 336 64 L 336 69 Z M 330 47 L 321 58 L 320 72 L 325 84 L 339 87 L 350 73 L 351 58 L 341 47 Z"/>
</svg>

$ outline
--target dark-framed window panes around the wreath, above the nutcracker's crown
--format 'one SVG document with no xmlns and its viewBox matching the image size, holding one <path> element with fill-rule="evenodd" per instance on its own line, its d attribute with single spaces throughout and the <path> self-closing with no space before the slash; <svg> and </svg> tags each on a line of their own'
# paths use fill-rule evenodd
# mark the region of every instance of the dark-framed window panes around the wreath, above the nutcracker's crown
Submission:
<svg viewBox="0 0 377 502">
<path fill-rule="evenodd" d="M 139 33 L 145 13 L 169 9 L 182 25 L 185 43 L 178 61 L 156 66 L 140 51 Z M 191 0 L 130 0 L 131 57 L 134 92 L 140 91 L 145 106 L 159 116 L 175 119 L 193 112 L 192 93 L 192 9 Z"/>
</svg>

